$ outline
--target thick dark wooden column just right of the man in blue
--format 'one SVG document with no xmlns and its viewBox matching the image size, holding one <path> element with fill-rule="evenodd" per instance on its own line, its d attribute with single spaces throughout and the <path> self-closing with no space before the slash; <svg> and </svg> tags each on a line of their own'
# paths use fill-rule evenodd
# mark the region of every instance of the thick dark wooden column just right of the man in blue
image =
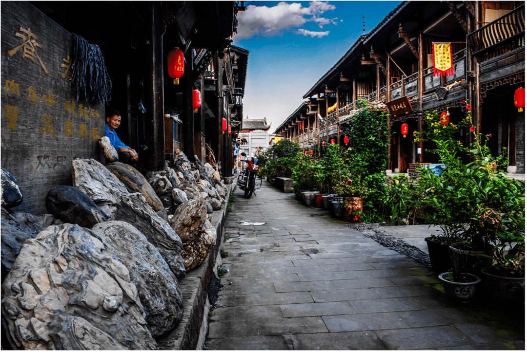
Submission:
<svg viewBox="0 0 527 352">
<path fill-rule="evenodd" d="M 163 107 L 163 22 L 161 3 L 151 3 L 151 13 L 147 22 L 147 67 L 145 83 L 150 100 L 147 109 L 148 170 L 163 170 L 164 147 L 164 107 Z"/>
</svg>

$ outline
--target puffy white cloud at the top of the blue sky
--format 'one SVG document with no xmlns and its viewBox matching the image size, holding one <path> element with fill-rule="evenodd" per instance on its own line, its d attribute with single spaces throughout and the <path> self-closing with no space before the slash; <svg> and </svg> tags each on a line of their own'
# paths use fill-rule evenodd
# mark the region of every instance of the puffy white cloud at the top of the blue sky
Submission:
<svg viewBox="0 0 527 352">
<path fill-rule="evenodd" d="M 323 28 L 326 24 L 337 23 L 338 18 L 329 19 L 321 16 L 324 12 L 334 9 L 334 5 L 321 1 L 313 1 L 309 7 L 303 7 L 300 3 L 287 2 L 280 2 L 273 7 L 249 5 L 245 11 L 238 13 L 238 34 L 235 38 L 281 35 L 291 29 L 302 27 L 306 22 L 315 22 Z M 298 30 L 295 33 L 304 34 L 303 31 Z M 320 37 L 318 34 L 316 36 Z"/>
</svg>

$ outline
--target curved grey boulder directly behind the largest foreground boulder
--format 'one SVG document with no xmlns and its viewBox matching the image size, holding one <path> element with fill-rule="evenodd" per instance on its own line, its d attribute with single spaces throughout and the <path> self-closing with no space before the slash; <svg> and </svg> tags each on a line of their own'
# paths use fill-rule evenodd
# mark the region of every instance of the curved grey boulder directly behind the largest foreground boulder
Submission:
<svg viewBox="0 0 527 352">
<path fill-rule="evenodd" d="M 138 289 L 152 336 L 173 329 L 183 315 L 183 297 L 178 280 L 147 238 L 132 225 L 110 221 L 95 225 L 106 247 L 119 255 Z"/>
</svg>

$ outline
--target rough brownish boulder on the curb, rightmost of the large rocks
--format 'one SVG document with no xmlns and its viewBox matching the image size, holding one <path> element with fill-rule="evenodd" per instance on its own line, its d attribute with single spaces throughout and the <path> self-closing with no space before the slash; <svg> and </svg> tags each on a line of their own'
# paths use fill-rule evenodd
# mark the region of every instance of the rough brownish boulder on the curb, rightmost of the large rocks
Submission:
<svg viewBox="0 0 527 352">
<path fill-rule="evenodd" d="M 201 197 L 181 204 L 170 219 L 170 226 L 183 242 L 182 257 L 187 270 L 200 265 L 216 241 L 216 232 L 214 236 L 207 232 L 206 221 L 207 202 Z"/>
</svg>

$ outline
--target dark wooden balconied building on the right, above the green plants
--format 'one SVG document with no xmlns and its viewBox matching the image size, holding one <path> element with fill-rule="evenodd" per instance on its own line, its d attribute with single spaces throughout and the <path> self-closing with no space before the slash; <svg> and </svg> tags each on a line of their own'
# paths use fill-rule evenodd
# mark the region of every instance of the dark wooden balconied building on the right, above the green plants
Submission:
<svg viewBox="0 0 527 352">
<path fill-rule="evenodd" d="M 525 79 L 524 16 L 524 2 L 403 2 L 309 89 L 308 101 L 275 133 L 304 147 L 330 139 L 343 144 L 343 126 L 363 98 L 391 114 L 387 169 L 406 173 L 410 163 L 438 160 L 423 142 L 402 138 L 401 125 L 412 136 L 422 130 L 424 113 L 435 109 L 448 109 L 456 123 L 471 104 L 476 132 L 494 136 L 487 144 L 493 155 L 506 147 L 509 172 L 523 174 L 524 113 L 514 106 L 514 92 Z M 453 75 L 434 76 L 435 42 L 451 43 Z M 403 101 L 409 107 L 397 113 L 394 102 Z M 318 118 L 298 129 L 304 106 Z M 457 137 L 469 145 L 470 136 L 463 130 Z"/>
</svg>

